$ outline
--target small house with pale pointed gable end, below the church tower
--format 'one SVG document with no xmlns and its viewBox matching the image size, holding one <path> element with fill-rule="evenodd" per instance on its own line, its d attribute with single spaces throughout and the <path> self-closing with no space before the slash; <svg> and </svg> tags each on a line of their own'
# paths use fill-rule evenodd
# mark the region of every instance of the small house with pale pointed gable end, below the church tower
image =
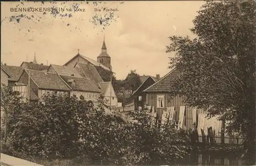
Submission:
<svg viewBox="0 0 256 166">
<path fill-rule="evenodd" d="M 117 107 L 117 96 L 111 82 L 100 82 L 100 90 L 106 100 L 106 105 Z"/>
</svg>

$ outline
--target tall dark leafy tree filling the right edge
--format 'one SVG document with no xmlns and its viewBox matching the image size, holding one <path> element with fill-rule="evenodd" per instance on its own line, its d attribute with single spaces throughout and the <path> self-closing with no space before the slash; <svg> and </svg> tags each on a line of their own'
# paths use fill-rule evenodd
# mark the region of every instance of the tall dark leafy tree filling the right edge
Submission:
<svg viewBox="0 0 256 166">
<path fill-rule="evenodd" d="M 180 70 L 172 96 L 221 115 L 245 136 L 255 157 L 255 1 L 207 1 L 193 20 L 197 37 L 170 36 L 170 67 Z M 251 158 L 252 159 L 252 158 Z M 255 159 L 253 160 L 255 161 Z"/>
</svg>

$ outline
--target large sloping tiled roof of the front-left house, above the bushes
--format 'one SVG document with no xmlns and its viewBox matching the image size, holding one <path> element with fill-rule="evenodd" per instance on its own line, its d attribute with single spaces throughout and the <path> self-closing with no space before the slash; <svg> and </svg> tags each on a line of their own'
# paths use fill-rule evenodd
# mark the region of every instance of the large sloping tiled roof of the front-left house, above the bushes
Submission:
<svg viewBox="0 0 256 166">
<path fill-rule="evenodd" d="M 27 73 L 29 73 L 30 70 L 30 77 L 39 88 L 53 90 L 70 90 L 66 83 L 61 80 L 58 74 L 31 69 L 25 70 Z"/>
</svg>

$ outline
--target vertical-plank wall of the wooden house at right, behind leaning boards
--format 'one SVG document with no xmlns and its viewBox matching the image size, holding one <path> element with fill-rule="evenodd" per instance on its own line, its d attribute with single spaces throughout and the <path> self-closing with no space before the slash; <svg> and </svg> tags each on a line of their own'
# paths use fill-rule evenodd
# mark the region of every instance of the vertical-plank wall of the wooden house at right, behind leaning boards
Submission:
<svg viewBox="0 0 256 166">
<path fill-rule="evenodd" d="M 164 108 L 157 108 L 157 95 L 164 95 Z M 182 102 L 181 96 L 176 96 L 175 98 L 170 99 L 168 93 L 146 93 L 146 104 L 153 106 L 155 112 L 157 112 L 160 118 L 167 107 L 175 107 L 174 120 L 176 121 L 178 121 L 179 118 L 180 106 L 185 106 L 185 104 Z M 205 111 L 197 109 L 197 117 L 199 113 L 205 113 Z M 192 107 L 185 106 L 185 126 L 187 129 L 193 129 Z"/>
</svg>

